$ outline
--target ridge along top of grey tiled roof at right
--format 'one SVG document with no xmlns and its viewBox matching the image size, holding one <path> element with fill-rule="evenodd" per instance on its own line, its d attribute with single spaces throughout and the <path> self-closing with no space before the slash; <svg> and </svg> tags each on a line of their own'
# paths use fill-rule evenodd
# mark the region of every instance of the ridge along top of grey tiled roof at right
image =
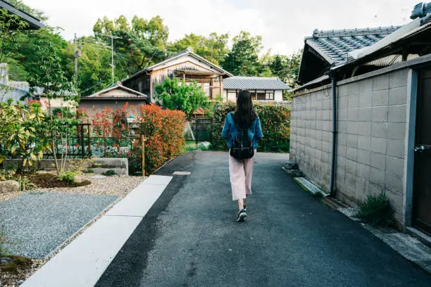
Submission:
<svg viewBox="0 0 431 287">
<path fill-rule="evenodd" d="M 385 27 L 367 27 L 356 29 L 339 29 L 339 30 L 318 30 L 313 31 L 313 36 L 306 37 L 306 39 L 313 39 L 319 37 L 344 37 L 344 36 L 360 36 L 368 34 L 391 34 L 402 26 L 385 26 Z"/>
</svg>

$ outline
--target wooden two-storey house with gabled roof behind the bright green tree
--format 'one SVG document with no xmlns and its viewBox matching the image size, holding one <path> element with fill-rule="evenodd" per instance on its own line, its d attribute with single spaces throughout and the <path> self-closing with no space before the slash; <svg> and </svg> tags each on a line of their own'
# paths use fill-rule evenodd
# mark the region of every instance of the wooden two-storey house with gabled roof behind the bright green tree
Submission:
<svg viewBox="0 0 431 287">
<path fill-rule="evenodd" d="M 175 56 L 151 65 L 135 75 L 123 80 L 123 86 L 139 91 L 154 101 L 154 86 L 163 82 L 165 77 L 177 77 L 185 82 L 197 82 L 204 89 L 206 96 L 215 99 L 223 95 L 223 79 L 232 74 L 202 58 L 192 49 L 187 48 Z"/>
</svg>

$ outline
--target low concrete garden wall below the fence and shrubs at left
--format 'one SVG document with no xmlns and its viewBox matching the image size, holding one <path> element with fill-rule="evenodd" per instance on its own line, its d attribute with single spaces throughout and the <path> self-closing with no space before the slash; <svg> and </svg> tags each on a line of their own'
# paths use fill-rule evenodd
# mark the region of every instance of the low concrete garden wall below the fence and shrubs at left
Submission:
<svg viewBox="0 0 431 287">
<path fill-rule="evenodd" d="M 18 168 L 20 160 L 4 160 L 4 169 Z M 68 170 L 70 165 L 82 165 L 85 169 L 92 169 L 95 173 L 101 174 L 106 170 L 115 170 L 117 174 L 129 174 L 129 161 L 127 158 L 92 158 L 92 160 L 67 160 L 65 169 Z M 55 161 L 53 159 L 42 159 L 36 164 L 39 170 L 55 170 Z"/>
</svg>

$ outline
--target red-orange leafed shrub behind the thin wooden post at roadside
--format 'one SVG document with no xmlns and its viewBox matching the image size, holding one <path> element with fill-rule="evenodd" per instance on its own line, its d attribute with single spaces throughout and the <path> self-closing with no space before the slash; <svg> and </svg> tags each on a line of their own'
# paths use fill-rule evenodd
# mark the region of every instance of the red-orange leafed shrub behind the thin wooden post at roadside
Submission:
<svg viewBox="0 0 431 287">
<path fill-rule="evenodd" d="M 135 120 L 127 122 L 130 115 Z M 127 157 L 132 170 L 141 170 L 144 135 L 145 171 L 151 174 L 181 153 L 185 146 L 184 129 L 185 113 L 180 110 L 163 110 L 155 105 L 137 108 L 126 103 L 123 108 L 106 108 L 96 115 L 92 120 L 92 142 L 108 151 L 102 156 Z"/>
</svg>

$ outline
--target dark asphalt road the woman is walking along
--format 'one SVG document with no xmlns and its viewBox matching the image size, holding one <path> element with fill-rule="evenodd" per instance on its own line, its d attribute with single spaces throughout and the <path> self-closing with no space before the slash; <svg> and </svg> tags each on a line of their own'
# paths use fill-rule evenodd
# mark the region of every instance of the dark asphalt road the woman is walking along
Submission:
<svg viewBox="0 0 431 287">
<path fill-rule="evenodd" d="M 235 222 L 227 153 L 193 152 L 96 286 L 431 286 L 431 276 L 258 153 L 246 222 Z"/>
</svg>

